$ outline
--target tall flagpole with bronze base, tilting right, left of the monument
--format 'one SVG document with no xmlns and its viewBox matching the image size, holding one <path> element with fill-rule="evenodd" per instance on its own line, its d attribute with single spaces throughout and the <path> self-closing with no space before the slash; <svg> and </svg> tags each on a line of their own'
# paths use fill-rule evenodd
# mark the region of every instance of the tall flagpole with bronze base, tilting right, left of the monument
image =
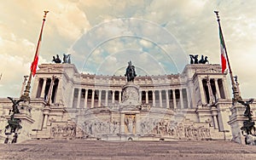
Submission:
<svg viewBox="0 0 256 160">
<path fill-rule="evenodd" d="M 38 54 L 38 51 L 39 51 L 39 46 L 40 46 L 40 43 L 41 43 L 41 37 L 42 37 L 42 34 L 43 34 L 43 29 L 44 29 L 44 21 L 46 19 L 46 14 L 48 13 L 49 11 L 44 11 L 44 18 L 43 18 L 43 24 L 41 26 L 41 31 L 40 31 L 40 35 L 39 35 L 39 38 L 38 38 L 38 45 L 37 45 L 37 49 L 36 49 L 36 53 L 34 55 L 34 59 L 36 58 L 37 54 Z M 33 61 L 34 62 L 34 61 Z M 25 100 L 25 101 L 30 101 L 30 97 L 29 97 L 29 93 L 30 93 L 30 88 L 31 88 L 31 80 L 32 80 L 32 69 L 30 70 L 30 74 L 29 74 L 29 77 L 28 77 L 28 81 L 26 83 L 26 89 L 24 90 L 24 94 L 22 94 L 20 96 L 20 99 L 22 100 Z"/>
</svg>

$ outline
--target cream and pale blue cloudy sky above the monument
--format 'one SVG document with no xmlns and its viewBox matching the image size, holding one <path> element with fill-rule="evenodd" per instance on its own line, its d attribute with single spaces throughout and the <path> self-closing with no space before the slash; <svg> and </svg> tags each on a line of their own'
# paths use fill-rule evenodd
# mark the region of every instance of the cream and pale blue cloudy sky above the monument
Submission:
<svg viewBox="0 0 256 160">
<path fill-rule="evenodd" d="M 9 0 L 0 4 L 0 97 L 20 96 L 38 42 L 39 64 L 72 54 L 79 71 L 123 75 L 131 60 L 140 75 L 183 71 L 189 54 L 220 62 L 218 10 L 242 97 L 255 97 L 256 2 L 253 0 Z"/>
</svg>

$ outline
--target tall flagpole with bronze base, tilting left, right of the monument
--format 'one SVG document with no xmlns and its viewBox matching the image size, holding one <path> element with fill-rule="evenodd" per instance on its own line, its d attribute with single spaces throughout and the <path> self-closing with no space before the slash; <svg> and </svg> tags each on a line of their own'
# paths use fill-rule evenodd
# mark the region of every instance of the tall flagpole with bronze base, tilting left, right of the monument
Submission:
<svg viewBox="0 0 256 160">
<path fill-rule="evenodd" d="M 237 100 L 241 100 L 241 96 L 239 95 L 239 91 L 237 90 L 237 87 L 236 87 L 236 83 L 235 83 L 235 80 L 234 80 L 234 77 L 233 77 L 233 72 L 231 70 L 231 66 L 230 66 L 230 59 L 229 59 L 229 56 L 228 56 L 228 51 L 226 49 L 226 45 L 225 45 L 225 42 L 224 42 L 224 35 L 223 35 L 223 32 L 222 32 L 222 29 L 221 29 L 221 26 L 220 26 L 220 19 L 219 19 L 219 15 L 218 15 L 218 11 L 214 11 L 214 13 L 216 14 L 217 16 L 217 21 L 218 21 L 218 28 L 219 28 L 219 31 L 221 32 L 221 35 L 222 35 L 222 42 L 224 43 L 224 50 L 225 50 L 225 56 L 226 56 L 226 59 L 227 59 L 227 62 L 228 62 L 228 66 L 229 66 L 229 71 L 230 71 L 230 79 L 231 79 L 231 84 L 232 84 L 232 90 L 233 90 L 233 102 L 236 102 Z"/>
</svg>

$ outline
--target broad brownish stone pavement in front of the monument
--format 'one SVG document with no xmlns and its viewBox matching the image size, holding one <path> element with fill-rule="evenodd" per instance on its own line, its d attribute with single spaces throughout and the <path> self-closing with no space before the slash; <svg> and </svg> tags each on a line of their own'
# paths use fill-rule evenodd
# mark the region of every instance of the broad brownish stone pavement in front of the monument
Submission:
<svg viewBox="0 0 256 160">
<path fill-rule="evenodd" d="M 256 159 L 256 146 L 230 141 L 27 140 L 1 144 L 0 159 Z"/>
</svg>

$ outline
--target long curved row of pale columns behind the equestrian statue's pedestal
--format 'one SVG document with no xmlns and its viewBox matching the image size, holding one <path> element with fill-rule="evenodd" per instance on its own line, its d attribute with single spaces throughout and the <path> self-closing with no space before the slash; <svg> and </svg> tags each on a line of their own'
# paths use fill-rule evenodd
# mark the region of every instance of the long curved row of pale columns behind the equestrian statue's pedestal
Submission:
<svg viewBox="0 0 256 160">
<path fill-rule="evenodd" d="M 102 89 L 74 88 L 71 96 L 73 108 L 93 108 L 113 106 L 121 103 L 122 91 Z M 142 104 L 183 109 L 189 107 L 187 89 L 139 90 L 139 101 Z"/>
</svg>

